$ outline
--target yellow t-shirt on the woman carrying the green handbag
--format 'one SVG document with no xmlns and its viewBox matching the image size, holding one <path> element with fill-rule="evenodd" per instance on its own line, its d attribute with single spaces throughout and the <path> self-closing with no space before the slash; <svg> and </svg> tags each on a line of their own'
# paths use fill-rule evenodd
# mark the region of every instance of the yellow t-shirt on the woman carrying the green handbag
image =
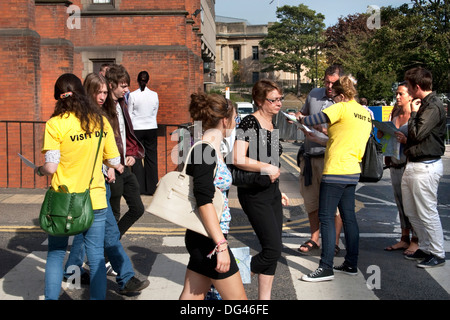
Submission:
<svg viewBox="0 0 450 320">
<path fill-rule="evenodd" d="M 91 201 L 94 210 L 107 207 L 105 178 L 102 173 L 103 160 L 119 157 L 114 133 L 108 120 L 103 117 L 103 139 L 95 163 L 91 184 Z M 52 117 L 45 125 L 42 153 L 60 150 L 61 159 L 52 177 L 51 185 L 58 190 L 66 185 L 69 192 L 84 192 L 89 187 L 100 130 L 86 134 L 79 119 L 73 114 Z"/>
</svg>

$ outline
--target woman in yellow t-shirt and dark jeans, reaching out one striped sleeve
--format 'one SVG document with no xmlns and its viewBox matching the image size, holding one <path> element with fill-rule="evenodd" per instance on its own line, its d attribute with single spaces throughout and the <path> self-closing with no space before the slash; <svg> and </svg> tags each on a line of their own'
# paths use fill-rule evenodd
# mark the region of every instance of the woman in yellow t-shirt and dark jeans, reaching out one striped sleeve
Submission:
<svg viewBox="0 0 450 320">
<path fill-rule="evenodd" d="M 302 117 L 302 124 L 328 124 L 325 165 L 319 194 L 319 220 L 322 253 L 319 267 L 302 277 L 318 282 L 334 278 L 334 271 L 357 274 L 359 228 L 355 216 L 355 190 L 361 173 L 360 162 L 372 130 L 370 112 L 355 101 L 356 89 L 351 76 L 333 84 L 334 105 L 321 113 Z M 333 268 L 336 209 L 341 215 L 347 253 L 342 265 Z"/>
</svg>

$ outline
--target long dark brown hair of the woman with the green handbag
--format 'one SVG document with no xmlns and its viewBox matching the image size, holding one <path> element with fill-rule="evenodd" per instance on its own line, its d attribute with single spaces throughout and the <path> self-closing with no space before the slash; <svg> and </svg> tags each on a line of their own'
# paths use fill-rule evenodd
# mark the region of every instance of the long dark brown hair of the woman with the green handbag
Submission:
<svg viewBox="0 0 450 320">
<path fill-rule="evenodd" d="M 91 103 L 81 80 L 72 73 L 61 75 L 55 83 L 55 110 L 52 117 L 64 116 L 73 112 L 80 120 L 81 128 L 92 133 L 96 128 L 103 128 L 103 114 Z"/>
</svg>

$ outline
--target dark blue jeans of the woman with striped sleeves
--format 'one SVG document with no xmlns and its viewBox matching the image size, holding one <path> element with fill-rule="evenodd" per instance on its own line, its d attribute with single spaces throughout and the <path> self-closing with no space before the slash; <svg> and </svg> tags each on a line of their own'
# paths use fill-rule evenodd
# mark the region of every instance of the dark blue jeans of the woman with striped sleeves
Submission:
<svg viewBox="0 0 450 320">
<path fill-rule="evenodd" d="M 334 218 L 336 209 L 342 218 L 345 234 L 346 255 L 344 264 L 357 267 L 359 252 L 359 228 L 355 215 L 354 184 L 338 184 L 321 182 L 319 193 L 319 221 L 322 235 L 322 254 L 319 267 L 333 268 L 336 229 Z"/>
</svg>

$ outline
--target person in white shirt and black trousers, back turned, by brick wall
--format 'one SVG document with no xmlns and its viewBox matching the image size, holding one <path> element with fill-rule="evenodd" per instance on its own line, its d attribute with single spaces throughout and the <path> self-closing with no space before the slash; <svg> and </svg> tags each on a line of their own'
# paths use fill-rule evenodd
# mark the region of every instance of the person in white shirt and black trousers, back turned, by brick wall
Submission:
<svg viewBox="0 0 450 320">
<path fill-rule="evenodd" d="M 130 93 L 129 112 L 134 132 L 145 148 L 144 161 L 136 161 L 133 172 L 136 174 L 141 194 L 153 195 L 158 183 L 158 114 L 159 99 L 155 91 L 147 87 L 147 71 L 139 72 L 139 89 Z"/>
</svg>

